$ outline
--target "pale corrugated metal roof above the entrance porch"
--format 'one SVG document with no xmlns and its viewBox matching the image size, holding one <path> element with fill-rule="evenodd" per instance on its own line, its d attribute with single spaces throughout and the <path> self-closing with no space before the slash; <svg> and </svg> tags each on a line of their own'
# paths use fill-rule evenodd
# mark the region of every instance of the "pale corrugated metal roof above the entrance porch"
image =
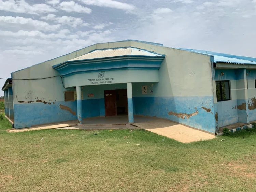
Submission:
<svg viewBox="0 0 256 192">
<path fill-rule="evenodd" d="M 139 55 L 139 56 L 163 56 L 157 53 L 152 53 L 149 51 L 136 49 L 132 47 L 119 48 L 119 49 L 103 49 L 103 50 L 94 50 L 90 53 L 84 54 L 82 56 L 70 59 L 69 61 L 85 60 L 85 59 L 96 59 L 96 58 L 106 58 L 106 57 L 117 57 L 125 55 Z"/>
</svg>

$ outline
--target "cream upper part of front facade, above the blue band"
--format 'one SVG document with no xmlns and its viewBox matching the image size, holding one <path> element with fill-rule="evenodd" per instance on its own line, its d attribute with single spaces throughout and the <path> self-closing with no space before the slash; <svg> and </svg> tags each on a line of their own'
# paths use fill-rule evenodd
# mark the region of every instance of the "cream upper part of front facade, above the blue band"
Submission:
<svg viewBox="0 0 256 192">
<path fill-rule="evenodd" d="M 159 83 L 154 96 L 212 96 L 212 74 L 210 56 L 192 53 L 159 45 L 136 41 L 121 41 L 95 44 L 67 55 L 31 66 L 12 73 L 13 79 L 45 78 L 59 75 L 52 66 L 79 57 L 95 49 L 136 47 L 165 54 L 159 69 Z M 18 101 L 63 101 L 63 88 L 60 77 L 42 80 L 13 80 L 14 104 Z M 71 88 L 72 89 L 72 88 Z M 154 93 L 154 94 L 155 94 Z"/>
</svg>

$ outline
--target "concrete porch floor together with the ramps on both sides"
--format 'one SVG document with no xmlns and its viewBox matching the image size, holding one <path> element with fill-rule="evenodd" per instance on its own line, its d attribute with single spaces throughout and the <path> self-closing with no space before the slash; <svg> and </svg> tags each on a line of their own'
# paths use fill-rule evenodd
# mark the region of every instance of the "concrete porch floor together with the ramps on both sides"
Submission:
<svg viewBox="0 0 256 192">
<path fill-rule="evenodd" d="M 99 118 L 90 118 L 90 120 L 99 120 Z M 86 122 L 86 119 L 85 121 Z M 93 121 L 91 121 L 93 122 Z M 103 122 L 103 120 L 102 120 Z M 105 121 L 104 121 L 105 122 Z M 36 127 L 23 128 L 23 129 L 9 129 L 8 132 L 17 133 L 32 130 L 42 129 L 84 129 L 84 130 L 104 130 L 104 129 L 145 129 L 147 131 L 175 139 L 182 143 L 190 143 L 194 141 L 208 140 L 216 138 L 210 133 L 205 133 L 185 125 L 177 124 L 168 120 L 159 118 L 138 118 L 138 123 L 124 123 L 124 124 L 83 124 L 77 126 L 77 121 L 66 121 L 61 123 L 40 125 Z M 90 123 L 90 121 L 89 121 Z"/>
</svg>

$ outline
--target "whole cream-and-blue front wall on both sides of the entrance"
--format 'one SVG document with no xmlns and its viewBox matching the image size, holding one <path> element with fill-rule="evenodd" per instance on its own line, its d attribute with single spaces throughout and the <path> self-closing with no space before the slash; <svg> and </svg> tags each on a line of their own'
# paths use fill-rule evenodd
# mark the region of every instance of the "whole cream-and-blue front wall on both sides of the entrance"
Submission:
<svg viewBox="0 0 256 192">
<path fill-rule="evenodd" d="M 166 118 L 191 127 L 215 132 L 211 58 L 208 55 L 136 41 L 104 43 L 92 45 L 14 72 L 12 78 L 45 78 L 59 75 L 52 68 L 53 65 L 81 56 L 94 49 L 117 47 L 135 47 L 166 55 L 161 68 L 157 71 L 159 79 L 152 78 L 151 75 L 148 75 L 149 73 L 144 74 L 145 71 L 136 73 L 141 80 L 132 82 L 134 114 Z M 123 70 L 117 70 L 117 72 L 121 74 Z M 132 71 L 128 74 L 131 75 Z M 76 79 L 76 82 L 65 78 L 65 87 L 71 88 L 64 88 L 60 77 L 42 80 L 13 80 L 15 128 L 77 119 L 76 101 L 65 102 L 63 92 L 75 90 L 72 87 L 76 86 L 76 83 L 80 83 L 81 86 L 86 85 L 87 77 L 85 75 L 76 75 L 77 77 L 73 78 Z M 83 118 L 104 116 L 104 90 L 126 89 L 126 84 L 123 84 L 128 81 L 123 81 L 126 77 L 119 75 L 119 78 L 116 79 L 117 82 L 108 85 L 83 86 Z M 159 82 L 156 83 L 158 80 Z M 145 81 L 147 83 L 144 83 Z M 152 89 L 153 94 L 142 95 L 142 85 L 148 85 L 148 90 Z M 93 92 L 97 94 L 94 94 L 93 98 L 88 98 L 87 94 Z"/>
</svg>

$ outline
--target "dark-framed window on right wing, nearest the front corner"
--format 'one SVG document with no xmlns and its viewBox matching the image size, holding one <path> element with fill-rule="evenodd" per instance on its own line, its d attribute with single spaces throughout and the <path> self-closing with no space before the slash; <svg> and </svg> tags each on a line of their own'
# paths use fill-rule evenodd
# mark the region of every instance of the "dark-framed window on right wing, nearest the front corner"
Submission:
<svg viewBox="0 0 256 192">
<path fill-rule="evenodd" d="M 229 81 L 216 81 L 217 101 L 230 100 Z"/>
</svg>

